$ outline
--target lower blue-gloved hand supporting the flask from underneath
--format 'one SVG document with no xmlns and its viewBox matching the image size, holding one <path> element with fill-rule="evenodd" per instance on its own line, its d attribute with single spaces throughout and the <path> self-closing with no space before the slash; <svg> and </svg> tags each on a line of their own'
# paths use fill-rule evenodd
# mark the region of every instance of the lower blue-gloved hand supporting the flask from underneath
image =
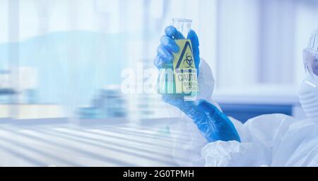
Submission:
<svg viewBox="0 0 318 181">
<path fill-rule="evenodd" d="M 190 117 L 201 134 L 209 142 L 214 141 L 239 141 L 240 136 L 230 119 L 218 108 L 205 100 L 194 102 L 184 101 L 179 98 L 163 96 L 163 100 L 170 105 L 178 107 Z"/>
</svg>

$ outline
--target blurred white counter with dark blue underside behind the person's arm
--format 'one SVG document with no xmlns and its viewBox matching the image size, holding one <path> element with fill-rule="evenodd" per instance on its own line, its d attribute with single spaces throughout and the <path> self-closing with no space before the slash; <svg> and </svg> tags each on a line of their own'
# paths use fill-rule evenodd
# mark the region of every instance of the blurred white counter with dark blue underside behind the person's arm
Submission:
<svg viewBox="0 0 318 181">
<path fill-rule="evenodd" d="M 259 115 L 284 114 L 302 119 L 296 86 L 263 85 L 216 89 L 213 101 L 226 115 L 246 122 Z"/>
</svg>

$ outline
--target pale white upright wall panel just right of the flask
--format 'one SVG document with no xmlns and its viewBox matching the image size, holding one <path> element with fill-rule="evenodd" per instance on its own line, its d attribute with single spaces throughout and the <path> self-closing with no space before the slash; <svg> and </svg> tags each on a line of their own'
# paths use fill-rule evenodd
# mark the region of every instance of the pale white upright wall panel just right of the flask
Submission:
<svg viewBox="0 0 318 181">
<path fill-rule="evenodd" d="M 218 85 L 255 83 L 259 51 L 258 1 L 218 1 Z"/>
</svg>

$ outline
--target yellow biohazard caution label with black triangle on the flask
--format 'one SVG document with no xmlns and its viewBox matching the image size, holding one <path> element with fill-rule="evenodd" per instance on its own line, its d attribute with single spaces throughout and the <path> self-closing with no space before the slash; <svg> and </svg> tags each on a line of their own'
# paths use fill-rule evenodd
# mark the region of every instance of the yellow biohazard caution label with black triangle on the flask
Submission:
<svg viewBox="0 0 318 181">
<path fill-rule="evenodd" d="M 175 74 L 176 93 L 192 93 L 198 91 L 196 65 L 190 40 L 175 40 L 180 51 L 175 53 L 173 70 Z"/>
</svg>

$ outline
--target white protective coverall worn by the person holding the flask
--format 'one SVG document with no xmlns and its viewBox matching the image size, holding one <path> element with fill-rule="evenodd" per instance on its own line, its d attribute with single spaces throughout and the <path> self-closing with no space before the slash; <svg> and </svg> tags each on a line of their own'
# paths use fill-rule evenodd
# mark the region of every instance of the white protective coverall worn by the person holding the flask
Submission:
<svg viewBox="0 0 318 181">
<path fill-rule="evenodd" d="M 316 33 L 315 45 L 318 44 L 318 30 Z M 200 90 L 198 100 L 213 103 L 214 79 L 211 69 L 204 60 L 201 60 L 199 69 L 199 88 L 204 90 Z M 314 91 L 306 88 L 308 81 L 314 82 L 310 74 L 302 83 L 300 100 L 309 118 L 296 120 L 282 114 L 261 115 L 242 124 L 230 117 L 241 142 L 208 143 L 192 119 L 184 115 L 170 127 L 175 139 L 175 160 L 181 166 L 318 166 L 318 118 L 311 116 L 315 115 L 312 114 L 313 110 L 318 111 L 318 98 L 316 101 L 312 95 Z"/>
</svg>

